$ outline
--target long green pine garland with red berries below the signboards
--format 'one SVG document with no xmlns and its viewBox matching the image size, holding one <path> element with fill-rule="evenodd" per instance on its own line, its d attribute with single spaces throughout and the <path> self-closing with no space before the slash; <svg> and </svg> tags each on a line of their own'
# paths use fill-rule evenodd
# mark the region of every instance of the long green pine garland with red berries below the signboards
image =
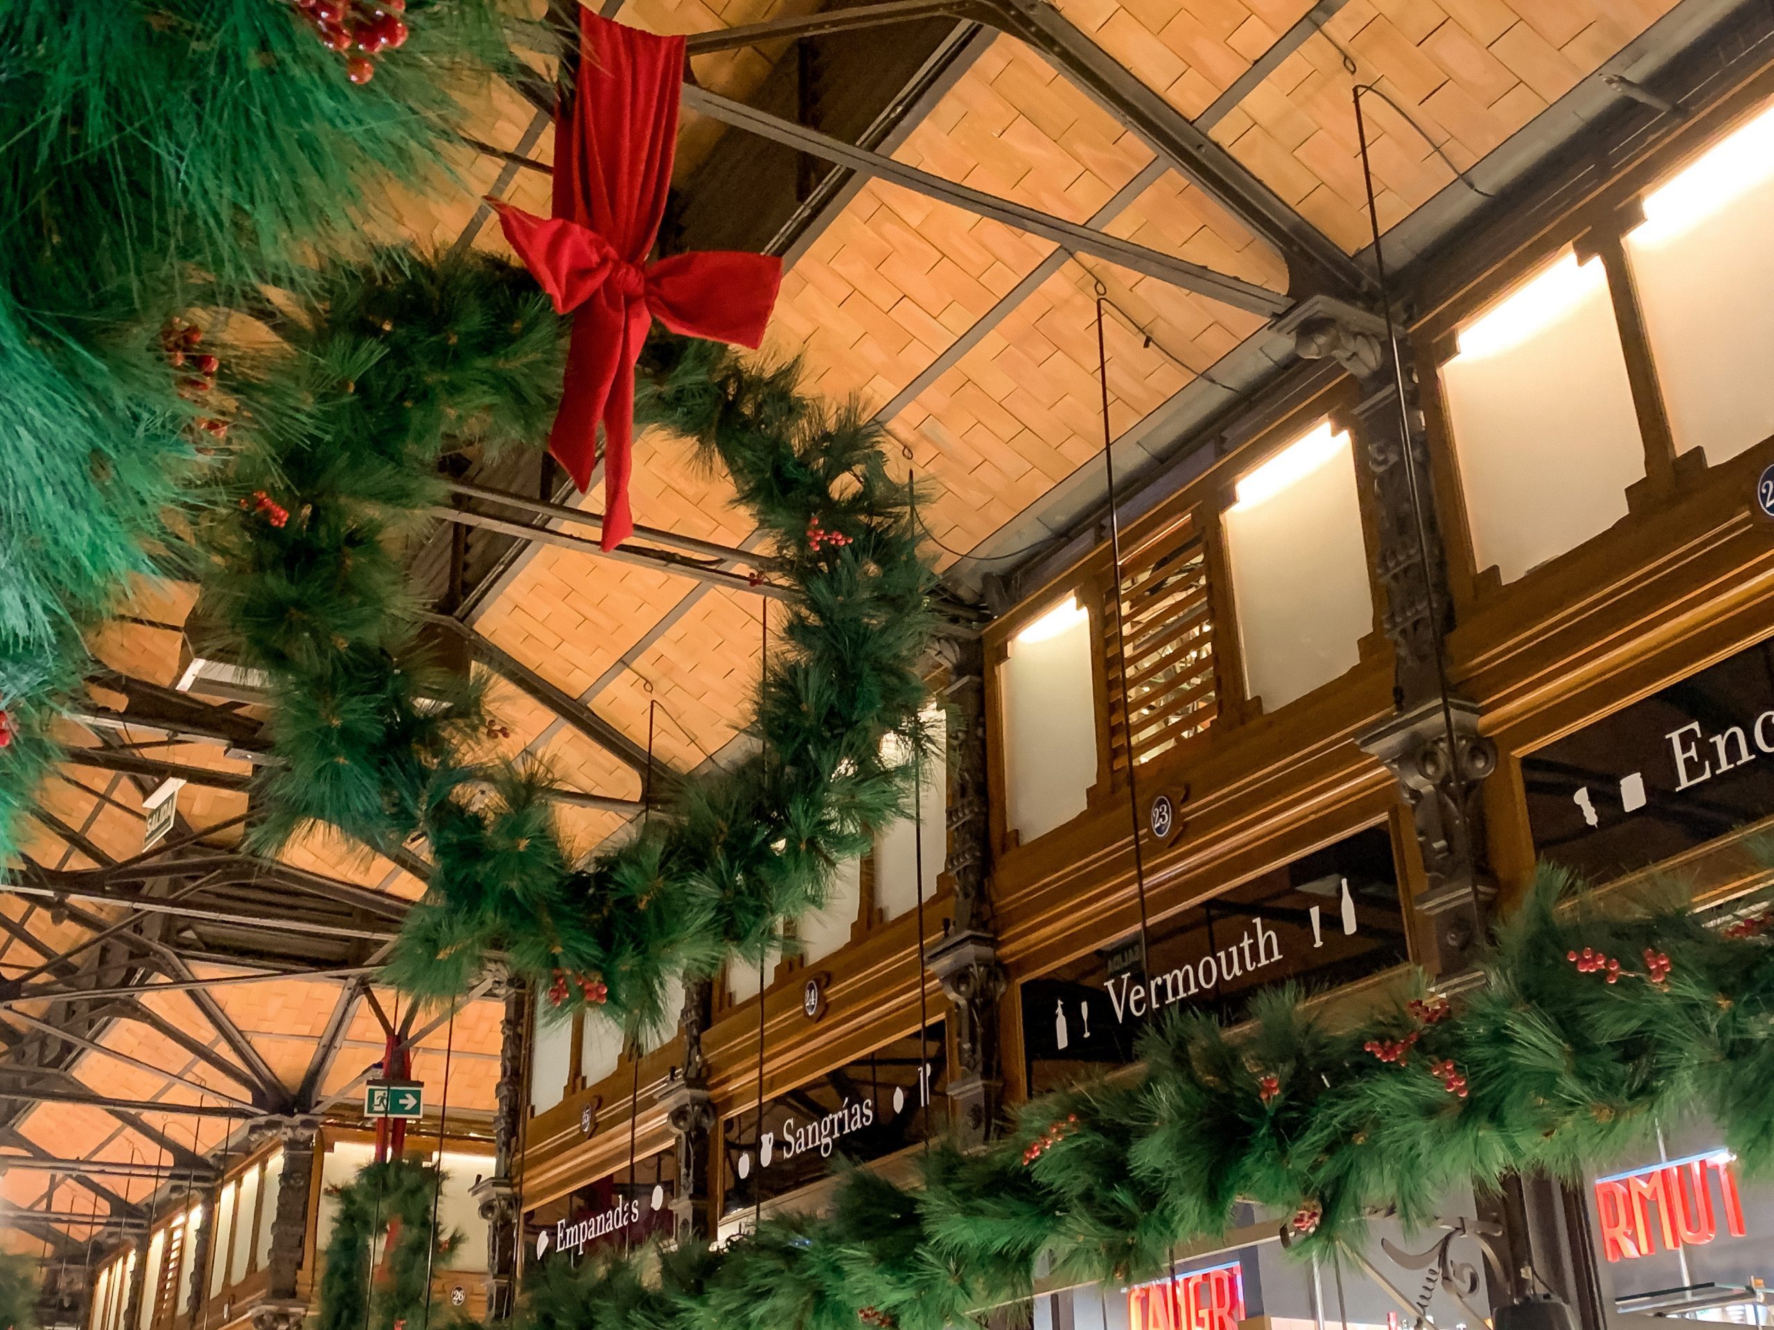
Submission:
<svg viewBox="0 0 1774 1330">
<path fill-rule="evenodd" d="M 768 1218 L 656 1273 L 621 1256 L 548 1268 L 525 1326 L 946 1330 L 1027 1298 L 1043 1252 L 1061 1277 L 1148 1277 L 1226 1232 L 1236 1201 L 1322 1250 L 1361 1241 L 1382 1209 L 1421 1225 L 1456 1186 L 1575 1177 L 1691 1114 L 1767 1167 L 1770 929 L 1774 911 L 1708 929 L 1669 894 L 1602 910 L 1549 869 L 1465 998 L 1398 1000 L 1357 1029 L 1291 990 L 1236 1030 L 1174 1018 L 1137 1076 L 1036 1099 L 981 1154 L 935 1147 L 917 1188 L 850 1170 L 828 1215 Z"/>
</svg>

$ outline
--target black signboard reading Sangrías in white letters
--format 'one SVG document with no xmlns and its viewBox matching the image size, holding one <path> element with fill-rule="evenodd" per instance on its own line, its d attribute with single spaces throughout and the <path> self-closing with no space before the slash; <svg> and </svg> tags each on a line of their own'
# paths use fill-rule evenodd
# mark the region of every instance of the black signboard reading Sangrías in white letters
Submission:
<svg viewBox="0 0 1774 1330">
<path fill-rule="evenodd" d="M 846 1062 L 820 1080 L 734 1114 L 722 1128 L 726 1202 L 734 1213 L 825 1177 L 839 1156 L 859 1163 L 947 1128 L 942 1021 Z M 921 1075 L 922 1073 L 922 1075 Z"/>
</svg>

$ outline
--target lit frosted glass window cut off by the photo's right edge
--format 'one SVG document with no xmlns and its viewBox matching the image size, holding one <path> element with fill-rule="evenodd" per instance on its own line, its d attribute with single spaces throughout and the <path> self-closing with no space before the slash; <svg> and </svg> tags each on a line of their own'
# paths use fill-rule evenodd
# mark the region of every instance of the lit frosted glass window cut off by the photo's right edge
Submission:
<svg viewBox="0 0 1774 1330">
<path fill-rule="evenodd" d="M 1632 280 L 1678 452 L 1721 463 L 1774 436 L 1774 110 L 1644 199 Z"/>
</svg>

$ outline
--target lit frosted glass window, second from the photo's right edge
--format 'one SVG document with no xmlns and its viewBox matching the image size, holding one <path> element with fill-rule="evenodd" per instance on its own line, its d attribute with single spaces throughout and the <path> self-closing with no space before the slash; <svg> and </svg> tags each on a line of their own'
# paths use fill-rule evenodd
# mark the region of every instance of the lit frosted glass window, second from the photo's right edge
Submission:
<svg viewBox="0 0 1774 1330">
<path fill-rule="evenodd" d="M 1644 475 L 1602 261 L 1566 252 L 1458 340 L 1440 378 L 1472 552 L 1513 582 L 1627 516 Z"/>
</svg>

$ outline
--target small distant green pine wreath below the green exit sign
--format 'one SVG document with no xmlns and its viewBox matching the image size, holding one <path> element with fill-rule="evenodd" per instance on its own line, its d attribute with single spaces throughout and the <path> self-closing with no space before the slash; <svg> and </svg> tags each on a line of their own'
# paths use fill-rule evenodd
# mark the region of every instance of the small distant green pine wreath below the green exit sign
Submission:
<svg viewBox="0 0 1774 1330">
<path fill-rule="evenodd" d="M 456 1231 L 435 1234 L 438 1186 L 436 1169 L 387 1160 L 364 1165 L 332 1190 L 337 1209 L 321 1266 L 318 1330 L 426 1330 L 433 1254 L 436 1266 L 447 1268 L 461 1245 Z M 373 1280 L 371 1254 L 385 1234 L 381 1277 Z"/>
</svg>

